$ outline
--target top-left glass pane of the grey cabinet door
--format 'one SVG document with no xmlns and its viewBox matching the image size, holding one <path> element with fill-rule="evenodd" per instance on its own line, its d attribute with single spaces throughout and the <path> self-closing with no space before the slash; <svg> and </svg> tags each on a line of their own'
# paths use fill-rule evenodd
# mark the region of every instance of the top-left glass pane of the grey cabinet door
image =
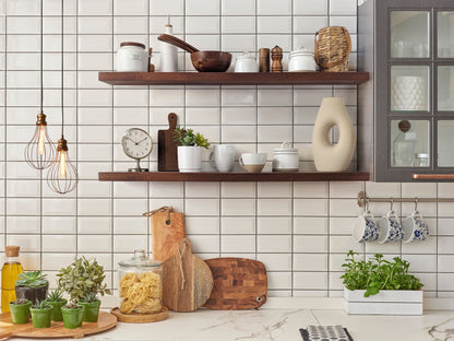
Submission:
<svg viewBox="0 0 454 341">
<path fill-rule="evenodd" d="M 429 58 L 429 12 L 391 12 L 391 57 Z"/>
</svg>

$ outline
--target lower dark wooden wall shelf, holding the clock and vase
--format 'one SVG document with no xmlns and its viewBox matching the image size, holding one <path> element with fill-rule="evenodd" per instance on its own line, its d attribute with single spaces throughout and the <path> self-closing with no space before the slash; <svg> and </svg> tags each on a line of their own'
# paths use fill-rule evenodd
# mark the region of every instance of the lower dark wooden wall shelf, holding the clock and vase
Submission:
<svg viewBox="0 0 454 341">
<path fill-rule="evenodd" d="M 292 173 L 246 173 L 246 172 L 100 172 L 99 181 L 367 181 L 363 172 L 292 172 Z"/>
</svg>

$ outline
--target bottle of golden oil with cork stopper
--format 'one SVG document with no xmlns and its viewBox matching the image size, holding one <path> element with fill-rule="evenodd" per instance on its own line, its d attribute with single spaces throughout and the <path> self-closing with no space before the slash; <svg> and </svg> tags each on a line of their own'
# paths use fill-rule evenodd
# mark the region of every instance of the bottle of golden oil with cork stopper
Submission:
<svg viewBox="0 0 454 341">
<path fill-rule="evenodd" d="M 19 261 L 19 246 L 10 245 L 4 248 L 5 261 L 1 269 L 1 311 L 10 311 L 10 302 L 15 299 L 14 283 L 22 266 Z"/>
</svg>

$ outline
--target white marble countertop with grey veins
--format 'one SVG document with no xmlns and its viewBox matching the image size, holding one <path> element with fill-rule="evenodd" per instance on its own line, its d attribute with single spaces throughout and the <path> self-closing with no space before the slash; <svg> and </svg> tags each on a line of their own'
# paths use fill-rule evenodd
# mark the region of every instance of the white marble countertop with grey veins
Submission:
<svg viewBox="0 0 454 341">
<path fill-rule="evenodd" d="M 342 325 L 355 341 L 454 340 L 454 311 L 427 311 L 422 316 L 359 316 L 338 309 L 282 309 L 170 313 L 165 321 L 122 324 L 84 340 L 147 341 L 300 341 L 299 328 Z M 12 339 L 25 340 L 25 339 Z M 71 340 L 71 339 L 68 339 Z"/>
</svg>

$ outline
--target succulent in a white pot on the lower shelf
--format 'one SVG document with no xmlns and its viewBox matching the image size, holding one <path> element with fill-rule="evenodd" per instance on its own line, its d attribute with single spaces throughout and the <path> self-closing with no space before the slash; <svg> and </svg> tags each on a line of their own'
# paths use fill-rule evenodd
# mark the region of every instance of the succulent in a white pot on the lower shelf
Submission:
<svg viewBox="0 0 454 341">
<path fill-rule="evenodd" d="M 201 172 L 202 148 L 210 146 L 208 140 L 192 129 L 177 127 L 174 132 L 174 141 L 178 145 L 178 169 L 180 172 Z"/>
</svg>

